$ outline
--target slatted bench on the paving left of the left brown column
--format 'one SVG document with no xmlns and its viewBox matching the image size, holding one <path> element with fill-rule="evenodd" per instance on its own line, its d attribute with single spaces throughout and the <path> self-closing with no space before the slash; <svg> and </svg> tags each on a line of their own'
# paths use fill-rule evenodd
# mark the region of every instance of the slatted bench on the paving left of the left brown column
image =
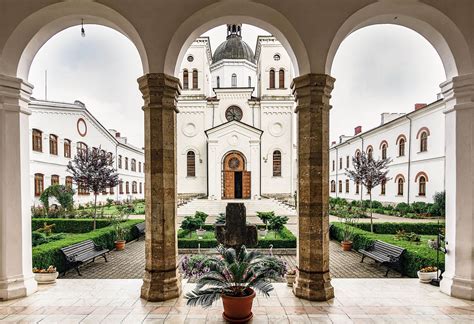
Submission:
<svg viewBox="0 0 474 324">
<path fill-rule="evenodd" d="M 66 270 L 63 272 L 63 276 L 66 274 L 66 271 L 70 268 L 74 268 L 77 271 L 79 276 L 81 272 L 79 271 L 79 267 L 92 260 L 95 261 L 97 257 L 103 257 L 105 262 L 107 262 L 106 254 L 109 250 L 102 248 L 101 246 L 96 245 L 92 240 L 82 241 L 65 248 L 61 249 L 64 258 L 66 259 Z"/>
</svg>

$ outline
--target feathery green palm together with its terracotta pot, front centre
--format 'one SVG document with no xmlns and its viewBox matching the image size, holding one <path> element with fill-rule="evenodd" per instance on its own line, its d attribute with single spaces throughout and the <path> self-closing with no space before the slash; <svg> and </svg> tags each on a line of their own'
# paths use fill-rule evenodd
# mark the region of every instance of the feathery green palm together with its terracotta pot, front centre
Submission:
<svg viewBox="0 0 474 324">
<path fill-rule="evenodd" d="M 195 263 L 200 269 L 205 264 L 206 271 L 197 278 L 195 289 L 186 294 L 187 304 L 206 308 L 222 298 L 225 320 L 247 322 L 253 317 L 255 290 L 268 297 L 273 290 L 270 281 L 283 277 L 286 266 L 273 256 L 248 252 L 245 246 L 238 253 L 223 245 L 217 251 L 218 257 L 210 256 Z"/>
</svg>

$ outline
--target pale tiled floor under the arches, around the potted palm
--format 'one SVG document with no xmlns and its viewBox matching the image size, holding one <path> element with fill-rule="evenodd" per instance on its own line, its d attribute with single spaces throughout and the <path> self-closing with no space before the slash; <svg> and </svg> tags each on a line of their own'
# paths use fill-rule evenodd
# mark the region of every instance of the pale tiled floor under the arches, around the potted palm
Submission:
<svg viewBox="0 0 474 324">
<path fill-rule="evenodd" d="M 186 306 L 140 299 L 142 280 L 59 280 L 26 298 L 0 301 L 0 321 L 22 323 L 224 323 L 222 302 Z M 473 323 L 474 302 L 442 294 L 416 279 L 334 279 L 335 298 L 296 298 L 284 283 L 269 298 L 257 295 L 251 323 Z"/>
</svg>

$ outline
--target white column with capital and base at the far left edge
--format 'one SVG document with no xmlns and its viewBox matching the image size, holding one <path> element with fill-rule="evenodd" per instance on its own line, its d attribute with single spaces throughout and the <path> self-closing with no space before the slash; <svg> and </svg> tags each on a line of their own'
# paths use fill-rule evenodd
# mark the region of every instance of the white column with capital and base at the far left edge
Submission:
<svg viewBox="0 0 474 324">
<path fill-rule="evenodd" d="M 37 289 L 31 272 L 32 89 L 21 79 L 0 75 L 0 300 Z"/>
</svg>

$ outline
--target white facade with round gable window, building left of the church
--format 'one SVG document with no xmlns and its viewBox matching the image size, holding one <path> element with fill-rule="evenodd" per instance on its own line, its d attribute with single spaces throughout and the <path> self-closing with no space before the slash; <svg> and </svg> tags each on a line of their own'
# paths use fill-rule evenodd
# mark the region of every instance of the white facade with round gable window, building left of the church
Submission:
<svg viewBox="0 0 474 324">
<path fill-rule="evenodd" d="M 105 201 L 107 198 L 125 200 L 144 197 L 143 150 L 128 144 L 127 138 L 121 137 L 115 130 L 105 129 L 83 103 L 33 100 L 29 108 L 32 111 L 29 132 L 32 205 L 40 204 L 38 194 L 42 191 L 35 183 L 36 177 L 43 178 L 43 190 L 53 183 L 54 178 L 59 179 L 59 184 L 66 184 L 66 177 L 71 176 L 66 166 L 76 155 L 79 143 L 111 153 L 122 181 L 112 192 L 108 189 L 101 193 L 97 197 L 98 201 Z M 38 131 L 41 132 L 41 149 L 33 145 L 33 132 L 38 134 Z M 51 136 L 57 139 L 57 151 L 51 148 Z M 70 143 L 69 156 L 66 142 Z M 80 194 L 75 184 L 73 188 L 76 190 L 75 203 L 82 204 L 94 199 L 92 194 Z"/>
</svg>

